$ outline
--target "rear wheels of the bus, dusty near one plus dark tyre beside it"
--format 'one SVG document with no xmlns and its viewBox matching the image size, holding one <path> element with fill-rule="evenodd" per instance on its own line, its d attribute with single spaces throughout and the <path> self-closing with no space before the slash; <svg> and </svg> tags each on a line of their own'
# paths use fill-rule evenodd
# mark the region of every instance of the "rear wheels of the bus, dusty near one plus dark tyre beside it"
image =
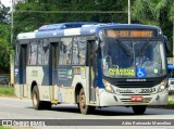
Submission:
<svg viewBox="0 0 174 129">
<path fill-rule="evenodd" d="M 32 100 L 33 100 L 33 106 L 35 109 L 50 109 L 51 108 L 51 102 L 40 101 L 39 90 L 37 86 L 34 87 L 33 89 Z"/>
</svg>

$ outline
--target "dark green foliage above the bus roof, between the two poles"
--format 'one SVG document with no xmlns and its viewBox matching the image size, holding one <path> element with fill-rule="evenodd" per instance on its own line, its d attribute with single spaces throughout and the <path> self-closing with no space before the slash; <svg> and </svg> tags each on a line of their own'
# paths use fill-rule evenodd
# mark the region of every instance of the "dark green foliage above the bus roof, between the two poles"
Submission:
<svg viewBox="0 0 174 129">
<path fill-rule="evenodd" d="M 127 23 L 127 1 L 122 0 L 26 0 L 15 5 L 14 30 L 32 31 L 42 25 L 63 22 Z M 41 11 L 41 12 L 39 12 Z M 61 13 L 60 11 L 67 11 Z M 72 13 L 76 11 L 76 13 Z M 122 14 L 80 13 L 82 11 L 124 11 Z"/>
</svg>

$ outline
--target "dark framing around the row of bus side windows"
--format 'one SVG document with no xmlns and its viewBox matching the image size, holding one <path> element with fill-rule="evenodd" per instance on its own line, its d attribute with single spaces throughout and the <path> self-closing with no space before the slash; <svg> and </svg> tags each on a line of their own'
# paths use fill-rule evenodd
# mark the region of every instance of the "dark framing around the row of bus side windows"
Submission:
<svg viewBox="0 0 174 129">
<path fill-rule="evenodd" d="M 86 38 L 86 52 L 85 52 L 85 63 L 84 64 L 72 64 L 72 62 L 71 62 L 71 64 L 59 64 L 59 60 L 60 60 L 60 52 L 58 52 L 58 63 L 57 63 L 57 68 L 59 67 L 59 66 L 87 66 L 88 65 L 88 43 L 94 43 L 92 41 L 97 41 L 97 38 L 96 38 L 96 36 L 86 36 L 86 35 L 82 35 L 82 36 L 70 36 L 70 37 L 58 37 L 58 38 L 35 38 L 35 39 L 25 39 L 24 40 L 24 42 L 23 42 L 23 40 L 18 40 L 18 43 L 16 44 L 16 48 L 17 49 L 20 49 L 21 48 L 21 46 L 22 44 L 27 44 L 27 62 L 26 62 L 26 66 L 48 66 L 48 65 L 50 65 L 50 54 L 51 54 L 51 43 L 53 43 L 53 42 L 55 42 L 55 43 L 58 43 L 58 50 L 60 51 L 60 42 L 61 42 L 61 39 L 62 38 L 72 38 L 72 49 L 73 49 L 73 42 L 74 42 L 74 38 L 75 37 L 82 37 L 82 38 Z M 49 43 L 49 59 L 48 59 L 48 64 L 39 64 L 38 65 L 38 47 L 39 47 L 39 40 L 48 40 L 48 43 Z M 35 44 L 37 44 L 37 60 L 36 60 L 36 64 L 34 65 L 34 64 L 29 64 L 29 51 L 30 51 L 30 47 L 32 47 L 32 43 L 35 43 Z M 17 57 L 20 59 L 20 50 L 18 50 L 18 55 L 17 55 Z M 71 56 L 71 59 L 73 60 L 73 50 L 72 50 L 72 56 Z M 15 55 L 15 60 L 16 60 L 16 55 Z M 15 64 L 16 65 L 16 64 Z M 17 65 L 18 65 L 18 62 L 17 62 Z"/>
</svg>

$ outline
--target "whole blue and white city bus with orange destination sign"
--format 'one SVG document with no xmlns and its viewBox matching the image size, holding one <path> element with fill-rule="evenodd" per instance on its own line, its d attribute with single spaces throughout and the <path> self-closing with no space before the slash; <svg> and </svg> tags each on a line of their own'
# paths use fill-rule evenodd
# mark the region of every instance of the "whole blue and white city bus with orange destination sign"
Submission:
<svg viewBox="0 0 174 129">
<path fill-rule="evenodd" d="M 17 35 L 15 93 L 35 109 L 77 104 L 144 114 L 167 104 L 169 50 L 162 30 L 141 24 L 70 22 Z"/>
</svg>

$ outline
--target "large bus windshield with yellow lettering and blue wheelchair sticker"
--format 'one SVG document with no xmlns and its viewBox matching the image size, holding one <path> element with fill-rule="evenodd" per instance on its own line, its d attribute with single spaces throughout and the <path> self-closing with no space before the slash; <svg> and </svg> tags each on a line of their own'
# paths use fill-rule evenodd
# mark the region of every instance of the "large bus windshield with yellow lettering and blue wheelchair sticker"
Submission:
<svg viewBox="0 0 174 129">
<path fill-rule="evenodd" d="M 101 47 L 103 75 L 148 78 L 166 74 L 162 41 L 105 39 Z"/>
</svg>

